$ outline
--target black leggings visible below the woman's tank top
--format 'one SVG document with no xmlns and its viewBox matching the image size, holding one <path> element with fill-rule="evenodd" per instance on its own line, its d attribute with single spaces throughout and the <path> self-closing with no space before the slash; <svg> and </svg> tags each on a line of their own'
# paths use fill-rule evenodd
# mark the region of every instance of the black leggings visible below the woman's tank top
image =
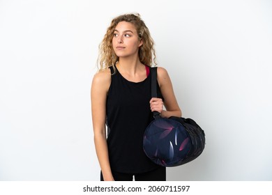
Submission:
<svg viewBox="0 0 272 195">
<path fill-rule="evenodd" d="M 146 173 L 133 174 L 112 171 L 112 175 L 116 181 L 132 181 L 133 176 L 135 181 L 166 181 L 166 169 L 163 166 Z M 100 181 L 104 181 L 102 172 L 100 172 Z"/>
</svg>

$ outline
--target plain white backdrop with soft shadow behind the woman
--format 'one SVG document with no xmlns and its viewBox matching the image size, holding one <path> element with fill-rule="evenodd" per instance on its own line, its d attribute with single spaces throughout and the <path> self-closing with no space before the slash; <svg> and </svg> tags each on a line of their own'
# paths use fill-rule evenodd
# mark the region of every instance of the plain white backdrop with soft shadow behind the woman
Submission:
<svg viewBox="0 0 272 195">
<path fill-rule="evenodd" d="M 90 86 L 112 18 L 142 15 L 206 148 L 167 180 L 272 180 L 271 1 L 0 0 L 0 180 L 99 180 Z"/>
</svg>

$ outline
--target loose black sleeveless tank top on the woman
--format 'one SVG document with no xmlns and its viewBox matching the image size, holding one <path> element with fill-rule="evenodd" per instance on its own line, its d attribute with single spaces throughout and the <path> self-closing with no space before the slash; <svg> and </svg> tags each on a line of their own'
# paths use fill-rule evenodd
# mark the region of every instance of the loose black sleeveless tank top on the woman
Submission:
<svg viewBox="0 0 272 195">
<path fill-rule="evenodd" d="M 113 68 L 110 69 L 113 73 Z M 163 98 L 159 87 L 158 97 Z M 144 81 L 135 83 L 125 79 L 116 68 L 106 103 L 107 147 L 112 171 L 144 173 L 160 167 L 143 150 L 144 131 L 153 120 L 150 100 L 150 74 Z"/>
</svg>

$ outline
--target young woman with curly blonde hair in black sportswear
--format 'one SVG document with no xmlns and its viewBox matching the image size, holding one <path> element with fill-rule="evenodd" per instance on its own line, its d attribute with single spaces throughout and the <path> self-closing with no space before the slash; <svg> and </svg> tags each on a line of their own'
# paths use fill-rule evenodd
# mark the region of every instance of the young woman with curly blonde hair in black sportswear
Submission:
<svg viewBox="0 0 272 195">
<path fill-rule="evenodd" d="M 91 85 L 100 180 L 133 180 L 133 176 L 166 180 L 165 167 L 144 154 L 144 130 L 153 120 L 152 111 L 168 118 L 181 116 L 181 109 L 164 68 L 157 70 L 159 98 L 151 98 L 149 68 L 155 58 L 149 29 L 138 14 L 112 20 L 100 44 L 100 67 Z"/>
</svg>

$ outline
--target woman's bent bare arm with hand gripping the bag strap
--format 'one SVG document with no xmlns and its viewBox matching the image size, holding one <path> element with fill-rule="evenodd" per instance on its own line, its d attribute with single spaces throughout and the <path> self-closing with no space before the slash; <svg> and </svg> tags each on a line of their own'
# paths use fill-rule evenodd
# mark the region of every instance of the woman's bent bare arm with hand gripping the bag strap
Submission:
<svg viewBox="0 0 272 195">
<path fill-rule="evenodd" d="M 158 67 L 157 80 L 164 102 L 160 98 L 151 98 L 151 111 L 158 111 L 163 118 L 169 118 L 170 116 L 181 117 L 181 109 L 174 95 L 172 81 L 165 68 Z M 163 110 L 163 106 L 166 110 Z"/>
</svg>

